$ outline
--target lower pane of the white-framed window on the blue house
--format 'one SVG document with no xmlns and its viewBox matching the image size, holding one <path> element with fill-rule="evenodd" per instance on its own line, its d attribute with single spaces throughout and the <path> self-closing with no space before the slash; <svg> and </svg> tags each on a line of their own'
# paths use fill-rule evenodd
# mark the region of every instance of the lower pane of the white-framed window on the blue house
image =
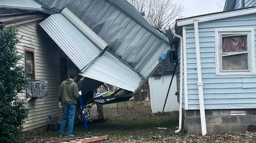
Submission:
<svg viewBox="0 0 256 143">
<path fill-rule="evenodd" d="M 222 57 L 223 70 L 248 70 L 248 53 Z"/>
</svg>

